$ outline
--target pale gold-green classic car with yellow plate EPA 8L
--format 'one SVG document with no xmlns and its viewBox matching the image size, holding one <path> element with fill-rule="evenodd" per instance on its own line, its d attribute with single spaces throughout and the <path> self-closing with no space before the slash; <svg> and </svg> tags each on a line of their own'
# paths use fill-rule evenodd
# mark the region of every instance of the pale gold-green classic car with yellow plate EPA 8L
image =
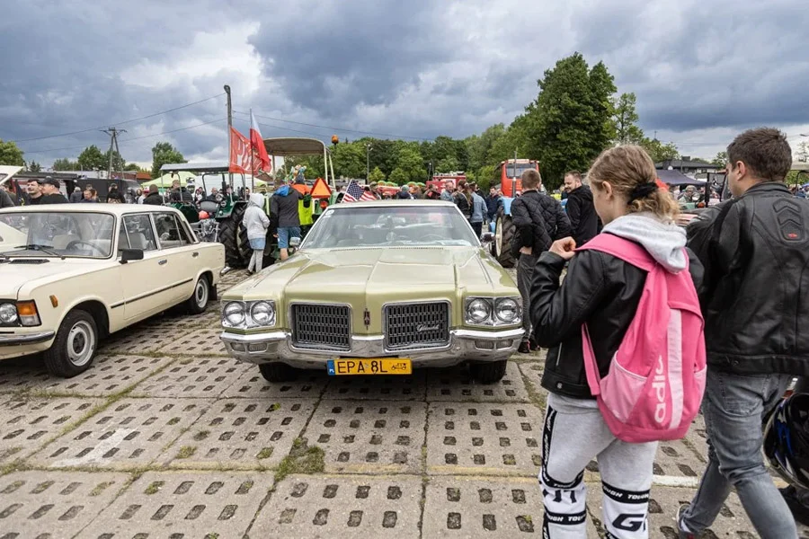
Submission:
<svg viewBox="0 0 809 539">
<path fill-rule="evenodd" d="M 289 260 L 222 298 L 222 340 L 270 382 L 295 368 L 409 374 L 467 362 L 505 374 L 522 338 L 520 293 L 455 205 L 330 206 Z"/>
</svg>

